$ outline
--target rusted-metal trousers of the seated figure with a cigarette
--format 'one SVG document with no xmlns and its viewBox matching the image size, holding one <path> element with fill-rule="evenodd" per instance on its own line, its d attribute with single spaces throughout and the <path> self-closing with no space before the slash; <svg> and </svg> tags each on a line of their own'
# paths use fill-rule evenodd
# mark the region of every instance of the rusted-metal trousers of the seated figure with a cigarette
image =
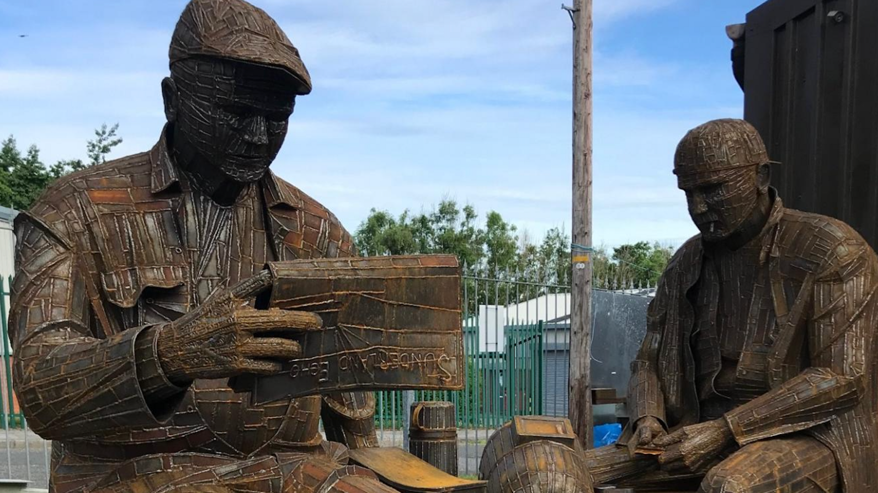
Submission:
<svg viewBox="0 0 878 493">
<path fill-rule="evenodd" d="M 650 491 L 698 487 L 699 493 L 838 493 L 838 468 L 831 450 L 805 435 L 766 439 L 717 457 L 697 475 L 659 470 L 654 456 L 630 457 L 628 449 L 610 445 L 589 450 L 587 468 L 595 484 L 615 484 Z"/>
</svg>

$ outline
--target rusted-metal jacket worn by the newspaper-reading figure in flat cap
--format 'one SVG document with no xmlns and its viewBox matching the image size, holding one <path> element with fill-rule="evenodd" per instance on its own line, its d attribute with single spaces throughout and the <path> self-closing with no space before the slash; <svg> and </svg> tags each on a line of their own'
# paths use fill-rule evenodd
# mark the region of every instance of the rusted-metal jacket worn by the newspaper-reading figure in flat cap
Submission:
<svg viewBox="0 0 878 493">
<path fill-rule="evenodd" d="M 322 447 L 321 415 L 327 438 L 377 445 L 371 393 L 253 406 L 227 379 L 178 388 L 164 377 L 155 325 L 266 261 L 352 252 L 335 216 L 270 173 L 233 207 L 212 207 L 162 138 L 148 153 L 61 178 L 18 215 L 15 389 L 32 429 L 55 440 L 54 491 L 145 454 L 248 458 Z"/>
</svg>

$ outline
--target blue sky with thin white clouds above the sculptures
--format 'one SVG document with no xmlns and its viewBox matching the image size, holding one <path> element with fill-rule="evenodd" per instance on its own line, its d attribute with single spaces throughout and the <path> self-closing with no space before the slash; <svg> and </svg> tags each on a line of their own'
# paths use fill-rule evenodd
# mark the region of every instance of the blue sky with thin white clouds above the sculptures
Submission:
<svg viewBox="0 0 878 493">
<path fill-rule="evenodd" d="M 349 230 L 372 207 L 417 212 L 447 196 L 531 238 L 570 231 L 572 30 L 557 1 L 255 4 L 314 85 L 273 169 Z M 694 125 L 741 116 L 724 26 L 758 4 L 594 0 L 595 245 L 694 233 L 673 150 Z M 84 157 L 93 129 L 119 122 L 112 157 L 147 150 L 183 7 L 0 0 L 0 137 L 53 163 Z"/>
</svg>

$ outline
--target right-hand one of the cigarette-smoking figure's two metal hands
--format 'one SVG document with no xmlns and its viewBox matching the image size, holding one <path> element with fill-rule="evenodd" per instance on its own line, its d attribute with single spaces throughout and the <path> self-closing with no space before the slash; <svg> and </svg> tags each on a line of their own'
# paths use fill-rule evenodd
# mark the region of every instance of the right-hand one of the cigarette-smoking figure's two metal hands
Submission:
<svg viewBox="0 0 878 493">
<path fill-rule="evenodd" d="M 729 424 L 723 418 L 684 426 L 654 442 L 665 447 L 665 452 L 659 455 L 662 469 L 686 473 L 702 472 L 733 443 Z"/>
</svg>

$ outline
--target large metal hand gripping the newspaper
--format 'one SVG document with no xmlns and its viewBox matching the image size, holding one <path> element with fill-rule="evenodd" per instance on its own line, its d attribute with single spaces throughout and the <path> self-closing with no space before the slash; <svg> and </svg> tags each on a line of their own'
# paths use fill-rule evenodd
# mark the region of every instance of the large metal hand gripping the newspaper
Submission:
<svg viewBox="0 0 878 493">
<path fill-rule="evenodd" d="M 255 310 L 248 301 L 271 285 L 269 272 L 208 298 L 195 310 L 160 329 L 158 356 L 171 382 L 241 374 L 270 375 L 300 354 L 291 336 L 320 329 L 308 311 Z"/>
</svg>

